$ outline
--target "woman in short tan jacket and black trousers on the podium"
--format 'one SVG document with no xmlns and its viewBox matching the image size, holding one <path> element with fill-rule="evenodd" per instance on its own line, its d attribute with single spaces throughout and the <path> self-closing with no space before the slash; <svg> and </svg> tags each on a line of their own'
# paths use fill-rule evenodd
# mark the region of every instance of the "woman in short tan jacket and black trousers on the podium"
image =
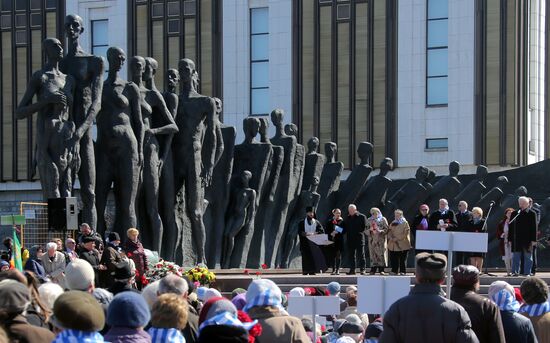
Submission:
<svg viewBox="0 0 550 343">
<path fill-rule="evenodd" d="M 411 249 L 411 228 L 403 217 L 403 211 L 395 210 L 394 217 L 395 219 L 388 229 L 391 274 L 405 275 L 407 273 L 407 255 Z"/>
</svg>

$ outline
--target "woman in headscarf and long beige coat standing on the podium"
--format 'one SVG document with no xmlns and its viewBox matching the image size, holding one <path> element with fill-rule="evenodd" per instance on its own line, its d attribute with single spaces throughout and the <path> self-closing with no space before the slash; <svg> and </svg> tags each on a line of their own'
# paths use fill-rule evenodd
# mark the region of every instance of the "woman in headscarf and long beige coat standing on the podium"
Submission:
<svg viewBox="0 0 550 343">
<path fill-rule="evenodd" d="M 388 264 L 388 221 L 377 207 L 370 209 L 371 216 L 367 219 L 367 238 L 369 241 L 370 274 L 376 270 L 385 275 L 384 268 Z"/>
</svg>

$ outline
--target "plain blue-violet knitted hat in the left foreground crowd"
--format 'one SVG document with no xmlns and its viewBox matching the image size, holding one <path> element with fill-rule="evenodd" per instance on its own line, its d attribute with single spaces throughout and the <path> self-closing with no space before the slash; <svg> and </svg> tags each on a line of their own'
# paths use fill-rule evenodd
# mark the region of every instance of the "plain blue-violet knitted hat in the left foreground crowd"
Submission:
<svg viewBox="0 0 550 343">
<path fill-rule="evenodd" d="M 136 292 L 117 294 L 107 310 L 107 324 L 113 327 L 144 327 L 150 319 L 149 305 Z"/>
</svg>

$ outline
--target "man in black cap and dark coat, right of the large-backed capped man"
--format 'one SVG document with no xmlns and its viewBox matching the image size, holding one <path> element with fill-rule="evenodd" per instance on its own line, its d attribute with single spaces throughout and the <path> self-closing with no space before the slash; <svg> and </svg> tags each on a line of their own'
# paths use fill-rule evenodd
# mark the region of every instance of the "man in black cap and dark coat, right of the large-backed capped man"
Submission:
<svg viewBox="0 0 550 343">
<path fill-rule="evenodd" d="M 462 305 L 472 329 L 481 343 L 504 343 L 504 329 L 500 310 L 494 302 L 476 294 L 479 290 L 479 270 L 474 266 L 459 265 L 453 269 L 451 300 Z"/>
</svg>

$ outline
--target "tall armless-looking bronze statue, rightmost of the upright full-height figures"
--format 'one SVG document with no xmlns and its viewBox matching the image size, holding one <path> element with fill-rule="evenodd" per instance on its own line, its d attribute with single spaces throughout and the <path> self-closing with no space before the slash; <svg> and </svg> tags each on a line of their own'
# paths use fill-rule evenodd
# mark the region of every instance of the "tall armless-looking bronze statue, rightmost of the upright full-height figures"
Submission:
<svg viewBox="0 0 550 343">
<path fill-rule="evenodd" d="M 216 127 L 214 99 L 197 91 L 198 72 L 195 63 L 184 58 L 179 61 L 181 77 L 174 151 L 175 189 L 185 187 L 185 205 L 191 221 L 196 262 L 205 262 L 206 233 L 203 222 L 204 189 L 212 181 L 216 152 Z M 209 144 L 204 144 L 209 142 Z M 204 151 L 203 151 L 204 150 Z"/>
</svg>

